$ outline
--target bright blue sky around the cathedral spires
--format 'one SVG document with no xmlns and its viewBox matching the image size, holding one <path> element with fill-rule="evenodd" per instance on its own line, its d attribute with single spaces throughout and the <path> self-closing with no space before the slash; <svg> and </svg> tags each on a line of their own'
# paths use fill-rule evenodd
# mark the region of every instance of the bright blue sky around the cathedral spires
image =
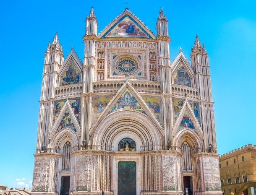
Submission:
<svg viewBox="0 0 256 195">
<path fill-rule="evenodd" d="M 84 20 L 94 6 L 98 32 L 126 1 L 3 1 L 0 6 L 0 183 L 31 187 L 44 52 L 58 32 L 65 57 L 83 58 Z M 135 1 L 131 10 L 155 33 L 162 6 L 169 20 L 171 61 L 189 59 L 198 34 L 210 59 L 218 153 L 256 144 L 256 2 Z M 6 76 L 6 77 L 5 77 Z M 247 103 L 245 103 L 247 102 Z M 243 108 L 243 109 L 242 109 Z"/>
</svg>

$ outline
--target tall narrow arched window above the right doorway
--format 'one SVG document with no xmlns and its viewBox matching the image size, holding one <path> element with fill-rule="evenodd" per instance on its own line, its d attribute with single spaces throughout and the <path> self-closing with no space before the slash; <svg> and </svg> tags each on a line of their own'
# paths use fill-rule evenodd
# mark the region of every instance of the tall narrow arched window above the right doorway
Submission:
<svg viewBox="0 0 256 195">
<path fill-rule="evenodd" d="M 183 171 L 192 171 L 191 148 L 186 141 L 181 145 L 181 152 L 182 152 Z"/>
</svg>

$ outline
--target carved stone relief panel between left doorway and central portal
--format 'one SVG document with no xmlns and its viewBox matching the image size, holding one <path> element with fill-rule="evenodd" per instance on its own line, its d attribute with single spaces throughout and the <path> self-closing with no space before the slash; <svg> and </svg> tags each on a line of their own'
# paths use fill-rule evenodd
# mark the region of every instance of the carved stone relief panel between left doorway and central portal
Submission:
<svg viewBox="0 0 256 195">
<path fill-rule="evenodd" d="M 91 190 L 91 156 L 78 156 L 76 167 L 76 175 L 78 175 L 76 190 Z"/>
</svg>

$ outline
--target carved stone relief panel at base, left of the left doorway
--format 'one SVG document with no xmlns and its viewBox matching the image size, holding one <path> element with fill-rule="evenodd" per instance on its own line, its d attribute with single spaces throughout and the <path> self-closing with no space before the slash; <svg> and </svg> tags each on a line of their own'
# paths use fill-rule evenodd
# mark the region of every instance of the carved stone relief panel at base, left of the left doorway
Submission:
<svg viewBox="0 0 256 195">
<path fill-rule="evenodd" d="M 32 191 L 47 192 L 50 158 L 35 159 Z"/>
</svg>

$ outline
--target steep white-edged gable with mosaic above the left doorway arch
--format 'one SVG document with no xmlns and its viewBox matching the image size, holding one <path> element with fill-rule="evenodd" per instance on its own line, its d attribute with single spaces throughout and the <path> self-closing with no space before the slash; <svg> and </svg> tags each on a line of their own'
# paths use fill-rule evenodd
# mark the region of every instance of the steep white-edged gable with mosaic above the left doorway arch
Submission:
<svg viewBox="0 0 256 195">
<path fill-rule="evenodd" d="M 57 120 L 55 121 L 55 124 L 52 127 L 50 137 L 52 137 L 55 133 L 63 128 L 68 128 L 73 130 L 77 135 L 81 135 L 80 126 L 68 100 L 65 102 L 59 116 L 57 117 Z"/>
</svg>

